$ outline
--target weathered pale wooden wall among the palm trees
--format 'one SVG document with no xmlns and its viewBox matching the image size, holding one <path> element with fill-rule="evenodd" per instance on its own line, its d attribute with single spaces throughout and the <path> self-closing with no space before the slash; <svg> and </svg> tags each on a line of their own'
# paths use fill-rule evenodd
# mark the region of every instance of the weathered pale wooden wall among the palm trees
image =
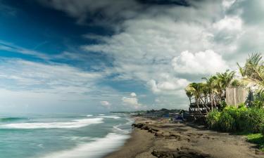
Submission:
<svg viewBox="0 0 264 158">
<path fill-rule="evenodd" d="M 227 105 L 234 105 L 238 107 L 239 104 L 245 103 L 249 96 L 249 90 L 245 87 L 226 88 L 226 102 Z"/>
</svg>

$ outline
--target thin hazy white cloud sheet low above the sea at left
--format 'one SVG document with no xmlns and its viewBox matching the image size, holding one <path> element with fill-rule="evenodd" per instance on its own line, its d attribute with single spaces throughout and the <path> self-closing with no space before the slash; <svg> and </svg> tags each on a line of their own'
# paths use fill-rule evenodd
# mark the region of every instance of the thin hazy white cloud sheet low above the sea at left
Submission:
<svg viewBox="0 0 264 158">
<path fill-rule="evenodd" d="M 0 98 L 4 98 L 0 109 L 11 105 L 30 105 L 34 109 L 42 105 L 51 110 L 52 106 L 59 109 L 63 105 L 66 110 L 75 105 L 80 110 L 87 103 L 98 105 L 99 100 L 120 98 L 113 88 L 96 84 L 103 77 L 104 72 L 86 72 L 69 65 L 1 59 Z"/>
</svg>

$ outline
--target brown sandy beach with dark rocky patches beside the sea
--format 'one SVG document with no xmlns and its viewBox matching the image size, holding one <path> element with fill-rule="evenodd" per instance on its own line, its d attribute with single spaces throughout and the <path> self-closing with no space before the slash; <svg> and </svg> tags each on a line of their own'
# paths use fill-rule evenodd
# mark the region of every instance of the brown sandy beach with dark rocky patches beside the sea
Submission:
<svg viewBox="0 0 264 158">
<path fill-rule="evenodd" d="M 245 136 L 210 131 L 194 124 L 170 124 L 167 119 L 135 118 L 131 138 L 104 158 L 264 157 Z"/>
</svg>

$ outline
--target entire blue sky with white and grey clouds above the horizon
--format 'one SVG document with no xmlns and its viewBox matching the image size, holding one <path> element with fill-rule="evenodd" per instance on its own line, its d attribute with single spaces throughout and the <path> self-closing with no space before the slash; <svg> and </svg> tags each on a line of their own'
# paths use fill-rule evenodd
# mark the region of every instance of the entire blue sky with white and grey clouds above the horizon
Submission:
<svg viewBox="0 0 264 158">
<path fill-rule="evenodd" d="M 187 109 L 262 53 L 264 1 L 0 0 L 0 112 Z"/>
</svg>

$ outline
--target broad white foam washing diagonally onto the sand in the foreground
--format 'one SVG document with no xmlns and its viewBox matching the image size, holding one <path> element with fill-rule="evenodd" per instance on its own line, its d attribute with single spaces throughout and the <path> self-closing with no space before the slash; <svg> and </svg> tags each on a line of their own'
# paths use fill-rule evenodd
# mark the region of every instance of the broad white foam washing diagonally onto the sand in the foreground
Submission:
<svg viewBox="0 0 264 158">
<path fill-rule="evenodd" d="M 129 137 L 109 133 L 105 138 L 98 138 L 94 142 L 77 145 L 72 150 L 51 153 L 42 158 L 99 158 L 118 149 Z"/>
</svg>

